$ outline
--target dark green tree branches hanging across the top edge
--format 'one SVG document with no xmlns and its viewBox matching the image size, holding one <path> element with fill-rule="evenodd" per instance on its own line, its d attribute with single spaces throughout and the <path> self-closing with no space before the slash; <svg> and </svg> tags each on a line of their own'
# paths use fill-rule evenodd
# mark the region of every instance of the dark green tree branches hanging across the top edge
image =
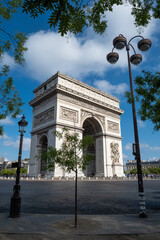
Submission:
<svg viewBox="0 0 160 240">
<path fill-rule="evenodd" d="M 63 36 L 68 31 L 75 34 L 84 27 L 92 26 L 97 33 L 107 28 L 106 12 L 113 11 L 113 5 L 132 5 L 136 26 L 146 26 L 152 17 L 160 18 L 160 0 L 24 0 L 23 11 L 33 18 L 50 13 L 50 27 L 58 29 Z"/>
</svg>

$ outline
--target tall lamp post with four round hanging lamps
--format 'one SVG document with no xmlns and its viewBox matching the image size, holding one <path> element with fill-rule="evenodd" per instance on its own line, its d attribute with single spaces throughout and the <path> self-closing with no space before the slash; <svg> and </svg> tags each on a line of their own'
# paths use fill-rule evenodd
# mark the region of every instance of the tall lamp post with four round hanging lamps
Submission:
<svg viewBox="0 0 160 240">
<path fill-rule="evenodd" d="M 138 173 L 138 190 L 139 190 L 139 216 L 142 218 L 146 218 L 146 207 L 145 207 L 145 195 L 144 195 L 144 187 L 143 187 L 143 178 L 142 178 L 142 166 L 141 166 L 141 156 L 140 156 L 140 146 L 139 146 L 139 137 L 138 137 L 138 127 L 137 127 L 137 118 L 136 118 L 136 108 L 134 101 L 134 92 L 133 92 L 133 83 L 132 83 L 132 73 L 131 73 L 131 63 L 134 65 L 138 65 L 142 61 L 142 55 L 137 54 L 135 48 L 131 44 L 131 41 L 135 38 L 141 38 L 138 42 L 138 49 L 141 51 L 147 51 L 150 49 L 152 43 L 149 39 L 144 39 L 141 35 L 134 36 L 128 42 L 127 39 L 120 34 L 113 40 L 113 49 L 112 52 L 107 54 L 107 61 L 111 64 L 115 64 L 119 55 L 116 52 L 113 52 L 114 48 L 121 50 L 126 47 L 127 58 L 128 58 L 128 69 L 129 69 L 129 79 L 130 79 L 130 89 L 131 89 L 131 97 L 132 97 L 132 113 L 133 113 L 133 126 L 134 126 L 134 138 L 135 143 L 133 144 L 133 155 L 137 161 L 137 173 Z M 130 57 L 129 50 L 130 47 L 133 49 L 134 54 Z"/>
</svg>

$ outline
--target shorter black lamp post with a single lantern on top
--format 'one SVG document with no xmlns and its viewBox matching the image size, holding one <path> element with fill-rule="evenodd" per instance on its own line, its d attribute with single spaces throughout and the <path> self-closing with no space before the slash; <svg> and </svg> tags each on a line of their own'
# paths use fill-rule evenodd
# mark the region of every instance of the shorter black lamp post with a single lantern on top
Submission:
<svg viewBox="0 0 160 240">
<path fill-rule="evenodd" d="M 23 143 L 23 133 L 26 132 L 26 127 L 28 122 L 25 120 L 25 116 L 22 116 L 22 119 L 18 122 L 19 132 L 20 134 L 20 143 L 19 143 L 19 155 L 17 162 L 17 173 L 16 173 L 16 181 L 13 187 L 13 196 L 11 198 L 10 204 L 10 218 L 16 218 L 20 216 L 21 209 L 21 197 L 20 197 L 20 170 L 21 170 L 21 155 L 22 155 L 22 143 Z"/>
</svg>

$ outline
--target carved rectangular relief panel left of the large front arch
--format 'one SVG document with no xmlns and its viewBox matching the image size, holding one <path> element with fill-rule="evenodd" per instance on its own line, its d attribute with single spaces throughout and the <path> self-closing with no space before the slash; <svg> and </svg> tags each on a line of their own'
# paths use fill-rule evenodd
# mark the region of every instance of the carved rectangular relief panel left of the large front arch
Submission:
<svg viewBox="0 0 160 240">
<path fill-rule="evenodd" d="M 78 111 L 61 106 L 60 118 L 68 121 L 78 122 Z"/>
</svg>

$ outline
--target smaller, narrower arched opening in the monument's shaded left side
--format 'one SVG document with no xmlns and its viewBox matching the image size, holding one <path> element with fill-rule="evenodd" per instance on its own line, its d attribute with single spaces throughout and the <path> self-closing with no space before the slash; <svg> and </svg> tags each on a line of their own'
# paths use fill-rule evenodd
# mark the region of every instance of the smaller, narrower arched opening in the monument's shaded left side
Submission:
<svg viewBox="0 0 160 240">
<path fill-rule="evenodd" d="M 40 139 L 40 145 L 41 145 L 41 150 L 43 152 L 47 151 L 47 147 L 48 147 L 48 139 L 46 136 L 43 136 Z M 47 168 L 46 168 L 46 161 L 44 159 L 41 158 L 41 162 L 40 162 L 40 174 L 41 176 L 46 174 Z"/>
</svg>

